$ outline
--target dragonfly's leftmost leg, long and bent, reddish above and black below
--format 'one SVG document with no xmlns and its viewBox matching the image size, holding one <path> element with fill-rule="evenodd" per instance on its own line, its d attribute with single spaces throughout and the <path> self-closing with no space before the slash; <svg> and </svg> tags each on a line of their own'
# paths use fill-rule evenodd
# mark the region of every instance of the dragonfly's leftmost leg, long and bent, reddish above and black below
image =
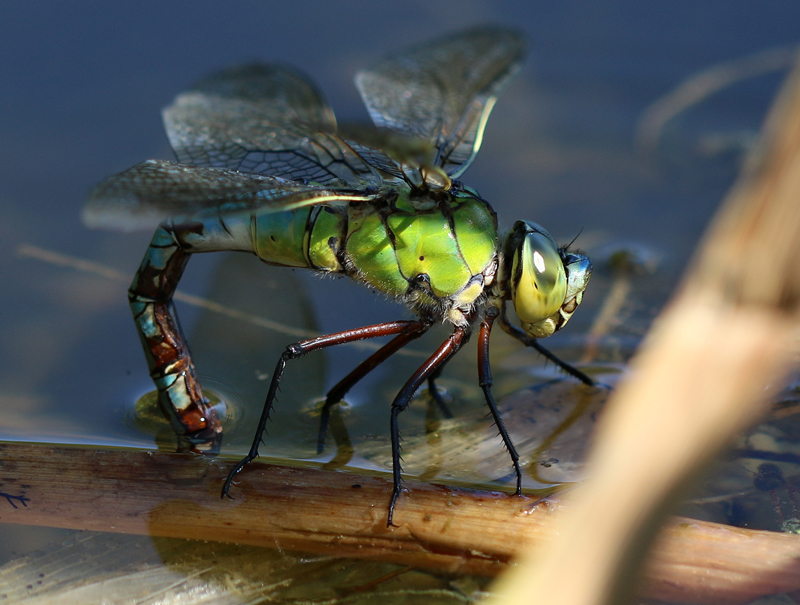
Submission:
<svg viewBox="0 0 800 605">
<path fill-rule="evenodd" d="M 284 352 L 281 354 L 281 357 L 278 360 L 277 365 L 275 366 L 275 371 L 272 374 L 272 380 L 270 381 L 269 391 L 267 392 L 267 398 L 266 401 L 264 402 L 264 409 L 261 412 L 261 418 L 258 421 L 256 435 L 255 438 L 253 439 L 253 444 L 250 446 L 250 451 L 228 473 L 228 477 L 227 479 L 225 479 L 225 484 L 222 486 L 222 495 L 230 497 L 229 491 L 231 488 L 231 484 L 233 483 L 234 477 L 239 473 L 239 471 L 241 471 L 245 466 L 247 466 L 250 462 L 252 462 L 258 457 L 258 447 L 262 443 L 262 437 L 267 427 L 267 421 L 269 420 L 269 415 L 270 412 L 272 411 L 272 405 L 275 403 L 275 397 L 278 394 L 278 388 L 280 387 L 281 379 L 283 378 L 283 372 L 286 369 L 286 363 L 288 361 L 302 357 L 303 355 L 311 353 L 312 351 L 317 351 L 328 347 L 335 347 L 336 345 L 341 345 L 348 342 L 366 340 L 368 338 L 378 338 L 380 336 L 399 335 L 398 338 L 393 339 L 391 342 L 389 342 L 386 346 L 384 346 L 382 349 L 380 349 L 377 353 L 375 353 L 372 356 L 375 357 L 376 355 L 381 353 L 384 349 L 386 349 L 387 347 L 395 343 L 397 340 L 399 340 L 400 336 L 405 335 L 409 331 L 411 332 L 411 338 L 409 338 L 409 340 L 413 340 L 414 338 L 416 338 L 418 335 L 415 335 L 415 331 L 419 331 L 421 329 L 420 324 L 421 322 L 419 321 L 409 321 L 409 320 L 391 321 L 387 323 L 376 324 L 373 326 L 356 328 L 354 330 L 346 330 L 344 332 L 338 332 L 336 334 L 328 334 L 327 336 L 309 338 L 308 340 L 301 340 L 300 342 L 296 342 L 294 344 L 290 344 L 289 346 L 287 346 L 286 350 L 284 350 Z M 424 329 L 427 330 L 428 326 L 424 324 L 423 326 Z M 400 348 L 400 346 L 397 346 L 397 348 Z M 394 351 L 390 351 L 388 354 L 386 354 L 386 356 L 388 357 L 392 352 Z M 372 359 L 372 357 L 370 357 L 369 359 Z M 369 359 L 367 361 L 369 361 Z M 375 365 L 377 365 L 377 363 Z M 336 387 L 334 387 L 334 389 L 335 388 Z"/>
</svg>

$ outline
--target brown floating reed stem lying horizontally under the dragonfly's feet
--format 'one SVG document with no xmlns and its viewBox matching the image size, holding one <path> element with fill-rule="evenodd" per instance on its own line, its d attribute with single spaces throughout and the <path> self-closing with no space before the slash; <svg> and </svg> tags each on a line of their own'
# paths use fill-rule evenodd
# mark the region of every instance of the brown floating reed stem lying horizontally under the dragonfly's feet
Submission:
<svg viewBox="0 0 800 605">
<path fill-rule="evenodd" d="M 386 528 L 391 481 L 255 463 L 235 500 L 228 464 L 188 454 L 0 444 L 0 522 L 238 542 L 495 575 L 552 535 L 557 501 L 409 483 Z M 16 508 L 14 508 L 16 506 Z M 676 519 L 645 593 L 735 603 L 800 589 L 800 538 Z"/>
</svg>

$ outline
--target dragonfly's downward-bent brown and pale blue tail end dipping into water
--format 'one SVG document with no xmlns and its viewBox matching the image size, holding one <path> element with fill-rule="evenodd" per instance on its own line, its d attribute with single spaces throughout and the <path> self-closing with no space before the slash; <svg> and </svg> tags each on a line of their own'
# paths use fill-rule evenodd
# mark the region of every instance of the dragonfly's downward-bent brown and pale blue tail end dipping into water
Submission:
<svg viewBox="0 0 800 605">
<path fill-rule="evenodd" d="M 203 396 L 172 296 L 191 254 L 171 227 L 156 230 L 128 290 L 158 402 L 179 435 L 179 449 L 215 451 L 222 427 Z"/>
</svg>

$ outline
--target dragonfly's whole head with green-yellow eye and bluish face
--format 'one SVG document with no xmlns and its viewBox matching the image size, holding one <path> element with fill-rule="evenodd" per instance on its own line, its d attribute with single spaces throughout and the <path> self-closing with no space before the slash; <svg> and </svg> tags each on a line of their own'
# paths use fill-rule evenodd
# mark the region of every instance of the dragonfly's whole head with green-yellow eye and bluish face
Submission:
<svg viewBox="0 0 800 605">
<path fill-rule="evenodd" d="M 559 248 L 552 236 L 530 221 L 517 221 L 505 244 L 508 289 L 522 329 L 545 338 L 563 328 L 583 299 L 592 263 L 583 254 Z"/>
</svg>

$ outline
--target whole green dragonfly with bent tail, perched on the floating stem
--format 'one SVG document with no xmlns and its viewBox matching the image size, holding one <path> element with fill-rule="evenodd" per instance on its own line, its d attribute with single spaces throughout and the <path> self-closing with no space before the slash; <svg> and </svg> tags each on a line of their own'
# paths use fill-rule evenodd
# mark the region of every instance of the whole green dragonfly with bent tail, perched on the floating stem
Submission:
<svg viewBox="0 0 800 605">
<path fill-rule="evenodd" d="M 337 128 L 316 86 L 285 65 L 224 69 L 163 111 L 177 162 L 148 160 L 99 184 L 84 208 L 91 227 L 155 228 L 129 289 L 159 405 L 198 450 L 221 441 L 172 297 L 193 254 L 242 251 L 267 264 L 343 274 L 413 313 L 290 344 L 277 362 L 252 447 L 228 475 L 258 456 L 292 360 L 312 351 L 391 337 L 327 394 L 331 408 L 394 353 L 445 324 L 449 336 L 391 404 L 393 489 L 388 525 L 402 492 L 399 417 L 478 332 L 478 380 L 522 490 L 520 457 L 492 395 L 489 342 L 495 323 L 566 373 L 584 372 L 539 344 L 566 325 L 592 272 L 582 253 L 559 246 L 540 225 L 519 220 L 500 232 L 492 206 L 459 179 L 480 149 L 500 93 L 518 71 L 524 37 L 482 27 L 389 55 L 355 83 L 374 128 Z M 507 314 L 513 306 L 519 325 Z M 212 444 L 212 445 L 209 445 Z"/>
</svg>

